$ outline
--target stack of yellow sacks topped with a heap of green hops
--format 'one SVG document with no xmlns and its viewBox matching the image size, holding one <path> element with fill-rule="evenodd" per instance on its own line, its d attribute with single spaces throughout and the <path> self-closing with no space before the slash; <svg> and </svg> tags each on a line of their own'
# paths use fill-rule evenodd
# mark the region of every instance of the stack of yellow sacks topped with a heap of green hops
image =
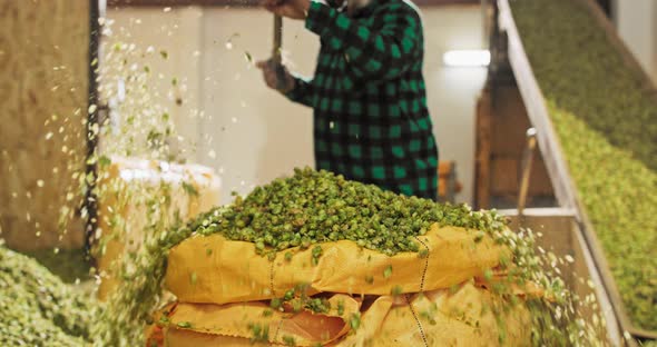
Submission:
<svg viewBox="0 0 657 347">
<path fill-rule="evenodd" d="M 168 251 L 164 282 L 176 300 L 154 315 L 147 346 L 537 338 L 527 305 L 543 300 L 537 264 L 516 266 L 527 247 L 494 214 L 304 169 L 188 228 Z"/>
</svg>

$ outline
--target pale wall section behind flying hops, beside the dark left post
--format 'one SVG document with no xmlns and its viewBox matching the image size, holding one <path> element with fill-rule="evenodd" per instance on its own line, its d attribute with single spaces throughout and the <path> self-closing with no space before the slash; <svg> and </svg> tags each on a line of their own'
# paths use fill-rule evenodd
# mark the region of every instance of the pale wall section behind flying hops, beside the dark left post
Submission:
<svg viewBox="0 0 657 347">
<path fill-rule="evenodd" d="M 106 40 L 135 43 L 139 49 L 155 49 L 138 62 L 148 66 L 156 76 L 153 87 L 159 96 L 153 101 L 166 107 L 176 122 L 176 129 L 185 138 L 180 150 L 184 157 L 196 161 L 194 146 L 199 132 L 197 113 L 200 109 L 200 59 L 203 57 L 202 36 L 204 11 L 198 7 L 184 7 L 173 11 L 153 8 L 110 9 L 108 18 L 115 20 L 112 33 Z M 163 59 L 159 51 L 167 51 Z M 178 87 L 171 88 L 171 79 L 178 79 Z M 171 90 L 174 89 L 174 90 Z M 137 96 L 140 97 L 140 96 Z M 176 98 L 183 99 L 176 105 Z M 129 98 L 129 96 L 126 96 Z"/>
</svg>

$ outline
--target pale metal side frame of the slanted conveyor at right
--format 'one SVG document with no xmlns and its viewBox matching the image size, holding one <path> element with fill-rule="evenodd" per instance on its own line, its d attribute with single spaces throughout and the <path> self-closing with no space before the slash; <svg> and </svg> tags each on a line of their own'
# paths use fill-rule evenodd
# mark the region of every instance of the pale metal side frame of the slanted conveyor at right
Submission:
<svg viewBox="0 0 657 347">
<path fill-rule="evenodd" d="M 590 0 L 578 0 L 586 3 L 594 16 L 600 21 L 611 41 L 624 53 L 630 68 L 637 67 L 636 60 L 627 52 L 617 33 L 599 8 Z M 607 335 L 614 345 L 628 344 L 636 346 L 631 338 L 624 338 L 629 334 L 635 338 L 657 339 L 656 331 L 648 331 L 636 327 L 629 319 L 624 303 L 620 299 L 615 279 L 592 224 L 587 217 L 586 209 L 578 196 L 577 188 L 570 176 L 563 158 L 558 137 L 551 123 L 545 98 L 533 75 L 529 59 L 524 52 L 520 34 L 516 27 L 509 0 L 498 0 L 496 3 L 496 30 L 503 32 L 504 47 L 498 48 L 503 60 L 508 60 L 522 96 L 527 113 L 536 128 L 537 142 L 555 190 L 559 208 L 524 209 L 519 206 L 521 215 L 516 210 L 506 210 L 516 226 L 530 227 L 545 235 L 543 247 L 555 248 L 558 255 L 570 255 L 575 259 L 573 270 L 577 276 L 589 278 L 595 285 L 595 294 L 600 304 L 601 314 L 606 319 Z M 520 198 L 522 200 L 522 197 Z M 577 280 L 571 279 L 571 287 L 578 294 L 585 294 Z M 584 290 L 579 293 L 580 290 Z"/>
</svg>

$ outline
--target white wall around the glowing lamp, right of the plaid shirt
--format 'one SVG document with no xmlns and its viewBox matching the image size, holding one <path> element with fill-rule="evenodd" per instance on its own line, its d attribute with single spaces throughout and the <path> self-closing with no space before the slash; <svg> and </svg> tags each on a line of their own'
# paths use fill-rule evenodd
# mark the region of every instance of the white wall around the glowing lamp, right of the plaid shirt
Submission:
<svg viewBox="0 0 657 347">
<path fill-rule="evenodd" d="M 423 8 L 424 79 L 440 160 L 455 160 L 463 191 L 460 202 L 472 202 L 474 177 L 474 112 L 486 81 L 486 68 L 447 68 L 442 54 L 452 49 L 482 49 L 483 22 L 479 7 Z"/>
</svg>

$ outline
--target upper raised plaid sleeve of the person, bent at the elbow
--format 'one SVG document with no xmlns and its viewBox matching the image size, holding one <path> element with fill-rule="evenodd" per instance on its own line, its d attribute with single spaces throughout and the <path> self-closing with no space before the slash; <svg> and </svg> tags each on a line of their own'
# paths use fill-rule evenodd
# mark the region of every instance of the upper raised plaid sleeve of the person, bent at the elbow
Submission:
<svg viewBox="0 0 657 347">
<path fill-rule="evenodd" d="M 345 13 L 311 1 L 305 24 L 335 50 L 344 51 L 356 79 L 390 80 L 416 61 L 421 28 L 411 8 L 395 6 L 384 11 L 383 26 L 373 31 Z"/>
</svg>

